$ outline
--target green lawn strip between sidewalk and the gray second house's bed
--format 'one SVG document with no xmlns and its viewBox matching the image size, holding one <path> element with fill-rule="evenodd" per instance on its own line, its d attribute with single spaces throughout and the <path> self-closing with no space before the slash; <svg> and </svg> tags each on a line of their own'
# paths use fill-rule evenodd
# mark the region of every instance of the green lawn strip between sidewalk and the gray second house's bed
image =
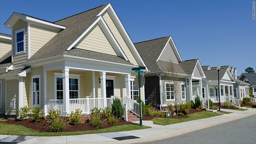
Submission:
<svg viewBox="0 0 256 144">
<path fill-rule="evenodd" d="M 198 112 L 198 113 L 188 114 L 189 116 L 188 118 L 153 118 L 151 121 L 153 121 L 154 124 L 158 124 L 158 125 L 170 125 L 170 124 L 176 124 L 176 123 L 197 120 L 197 119 L 202 119 L 207 117 L 213 117 L 218 115 L 223 115 L 223 114 L 213 113 L 213 112 Z"/>
</svg>

